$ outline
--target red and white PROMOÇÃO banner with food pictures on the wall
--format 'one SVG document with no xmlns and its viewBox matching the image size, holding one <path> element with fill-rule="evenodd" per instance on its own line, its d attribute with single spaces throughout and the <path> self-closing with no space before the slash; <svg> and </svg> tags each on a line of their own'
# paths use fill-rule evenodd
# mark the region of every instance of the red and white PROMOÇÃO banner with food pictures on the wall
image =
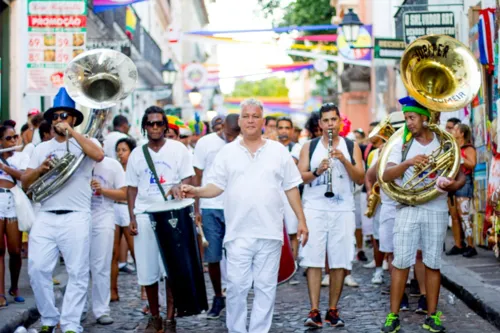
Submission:
<svg viewBox="0 0 500 333">
<path fill-rule="evenodd" d="M 27 93 L 56 94 L 69 61 L 84 52 L 87 0 L 28 0 Z"/>
</svg>

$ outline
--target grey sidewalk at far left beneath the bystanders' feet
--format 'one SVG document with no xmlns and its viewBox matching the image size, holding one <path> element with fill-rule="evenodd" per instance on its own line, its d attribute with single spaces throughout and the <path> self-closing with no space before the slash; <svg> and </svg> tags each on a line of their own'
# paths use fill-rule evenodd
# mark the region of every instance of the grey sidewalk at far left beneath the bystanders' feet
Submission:
<svg viewBox="0 0 500 333">
<path fill-rule="evenodd" d="M 10 286 L 10 271 L 9 271 L 9 254 L 7 253 L 5 257 L 5 292 L 9 292 Z M 62 298 L 63 289 L 66 286 L 67 275 L 65 267 L 57 264 L 55 268 L 54 277 L 58 279 L 61 284 L 56 286 L 55 296 L 56 302 Z M 0 333 L 12 333 L 14 330 L 21 326 L 26 325 L 27 327 L 35 323 L 40 314 L 36 309 L 35 297 L 33 296 L 33 291 L 30 287 L 29 277 L 28 277 L 28 259 L 23 259 L 23 266 L 21 269 L 21 276 L 19 278 L 19 290 L 21 296 L 24 297 L 24 304 L 16 304 L 12 297 L 7 296 L 7 302 L 9 306 L 0 310 Z"/>
</svg>

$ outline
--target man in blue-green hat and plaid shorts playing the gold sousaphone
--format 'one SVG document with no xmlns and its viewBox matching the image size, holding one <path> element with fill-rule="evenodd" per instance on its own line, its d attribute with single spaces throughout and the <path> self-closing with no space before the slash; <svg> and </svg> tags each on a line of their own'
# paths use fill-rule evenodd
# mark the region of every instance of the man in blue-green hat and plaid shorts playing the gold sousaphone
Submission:
<svg viewBox="0 0 500 333">
<path fill-rule="evenodd" d="M 440 146 L 439 138 L 427 127 L 430 112 L 412 97 L 399 100 L 405 114 L 403 140 L 390 152 L 384 182 L 408 181 L 414 174 L 415 165 L 429 163 L 428 155 Z M 417 186 L 426 186 L 439 176 L 439 173 L 424 174 L 427 178 Z M 459 173 L 456 179 L 449 179 L 441 189 L 456 191 L 465 183 L 465 175 Z M 408 272 L 415 264 L 415 254 L 419 245 L 425 265 L 425 288 L 427 308 L 430 314 L 423 327 L 431 332 L 444 332 L 441 325 L 441 312 L 437 312 L 441 281 L 441 252 L 448 226 L 447 196 L 442 194 L 434 200 L 419 206 L 400 205 L 394 226 L 394 260 L 391 273 L 391 312 L 387 315 L 382 332 L 392 333 L 400 329 L 399 308 L 403 297 Z"/>
</svg>

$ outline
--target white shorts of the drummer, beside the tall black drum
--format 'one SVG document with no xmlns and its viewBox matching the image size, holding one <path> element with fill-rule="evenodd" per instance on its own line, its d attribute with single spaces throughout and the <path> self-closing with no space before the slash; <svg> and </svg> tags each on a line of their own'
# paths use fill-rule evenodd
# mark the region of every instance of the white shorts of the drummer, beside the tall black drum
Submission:
<svg viewBox="0 0 500 333">
<path fill-rule="evenodd" d="M 135 218 L 138 231 L 134 239 L 137 282 L 141 286 L 150 286 L 165 275 L 165 270 L 149 215 L 137 214 Z"/>
</svg>

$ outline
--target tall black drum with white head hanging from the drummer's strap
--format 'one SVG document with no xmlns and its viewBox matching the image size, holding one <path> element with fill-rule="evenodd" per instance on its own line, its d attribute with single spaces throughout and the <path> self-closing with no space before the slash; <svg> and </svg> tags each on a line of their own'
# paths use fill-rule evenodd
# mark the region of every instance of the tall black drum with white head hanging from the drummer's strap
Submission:
<svg viewBox="0 0 500 333">
<path fill-rule="evenodd" d="M 172 287 L 177 317 L 208 310 L 203 264 L 194 222 L 194 200 L 158 202 L 147 209 Z"/>
</svg>

